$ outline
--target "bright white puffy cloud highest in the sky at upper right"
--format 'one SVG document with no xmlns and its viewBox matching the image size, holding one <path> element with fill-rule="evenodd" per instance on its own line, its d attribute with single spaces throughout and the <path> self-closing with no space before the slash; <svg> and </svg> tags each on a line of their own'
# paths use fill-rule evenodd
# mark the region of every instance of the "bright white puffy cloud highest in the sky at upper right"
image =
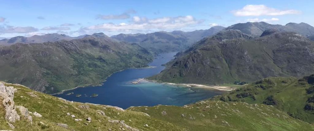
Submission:
<svg viewBox="0 0 314 131">
<path fill-rule="evenodd" d="M 246 5 L 242 9 L 231 11 L 235 16 L 262 16 L 262 15 L 285 15 L 285 14 L 299 14 L 298 10 L 279 10 L 269 8 L 265 5 Z"/>
</svg>

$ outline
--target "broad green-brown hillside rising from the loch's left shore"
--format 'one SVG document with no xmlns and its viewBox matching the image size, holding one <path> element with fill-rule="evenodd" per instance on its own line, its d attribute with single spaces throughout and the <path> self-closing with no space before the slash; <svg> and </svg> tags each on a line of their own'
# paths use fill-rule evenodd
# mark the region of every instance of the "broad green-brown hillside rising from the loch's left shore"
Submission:
<svg viewBox="0 0 314 131">
<path fill-rule="evenodd" d="M 0 47 L 0 80 L 55 93 L 104 81 L 116 71 L 144 67 L 152 55 L 105 34 L 82 39 Z"/>
</svg>

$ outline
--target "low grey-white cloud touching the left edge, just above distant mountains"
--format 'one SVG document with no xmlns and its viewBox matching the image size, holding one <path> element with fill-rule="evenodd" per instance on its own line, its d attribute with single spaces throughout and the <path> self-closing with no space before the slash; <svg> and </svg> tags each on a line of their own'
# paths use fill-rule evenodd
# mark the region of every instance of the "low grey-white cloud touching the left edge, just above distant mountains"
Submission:
<svg viewBox="0 0 314 131">
<path fill-rule="evenodd" d="M 14 26 L 0 26 L 0 33 L 30 33 L 38 31 L 37 28 L 27 26 L 27 27 L 14 27 Z"/>
</svg>

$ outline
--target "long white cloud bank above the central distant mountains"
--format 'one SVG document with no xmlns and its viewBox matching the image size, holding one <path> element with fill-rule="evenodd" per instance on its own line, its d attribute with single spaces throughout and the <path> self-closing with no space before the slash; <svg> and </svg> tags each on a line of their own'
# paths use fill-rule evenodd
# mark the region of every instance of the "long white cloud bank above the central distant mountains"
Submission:
<svg viewBox="0 0 314 131">
<path fill-rule="evenodd" d="M 163 17 L 148 19 L 145 17 L 133 17 L 133 23 L 105 23 L 83 28 L 83 30 L 93 31 L 128 31 L 128 30 L 148 30 L 148 29 L 178 29 L 202 23 L 202 20 L 195 20 L 193 16 Z"/>
</svg>

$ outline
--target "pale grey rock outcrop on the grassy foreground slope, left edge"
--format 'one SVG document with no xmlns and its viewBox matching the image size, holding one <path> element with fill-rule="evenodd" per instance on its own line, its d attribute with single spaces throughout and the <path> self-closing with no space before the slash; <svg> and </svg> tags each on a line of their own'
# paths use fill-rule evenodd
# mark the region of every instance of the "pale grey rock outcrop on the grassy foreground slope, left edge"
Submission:
<svg viewBox="0 0 314 131">
<path fill-rule="evenodd" d="M 4 86 L 3 83 L 0 82 L 0 97 L 3 98 L 2 104 L 5 109 L 5 119 L 10 123 L 14 123 L 15 120 L 19 120 L 20 116 L 16 113 L 14 106 L 14 87 L 13 86 Z"/>
</svg>

